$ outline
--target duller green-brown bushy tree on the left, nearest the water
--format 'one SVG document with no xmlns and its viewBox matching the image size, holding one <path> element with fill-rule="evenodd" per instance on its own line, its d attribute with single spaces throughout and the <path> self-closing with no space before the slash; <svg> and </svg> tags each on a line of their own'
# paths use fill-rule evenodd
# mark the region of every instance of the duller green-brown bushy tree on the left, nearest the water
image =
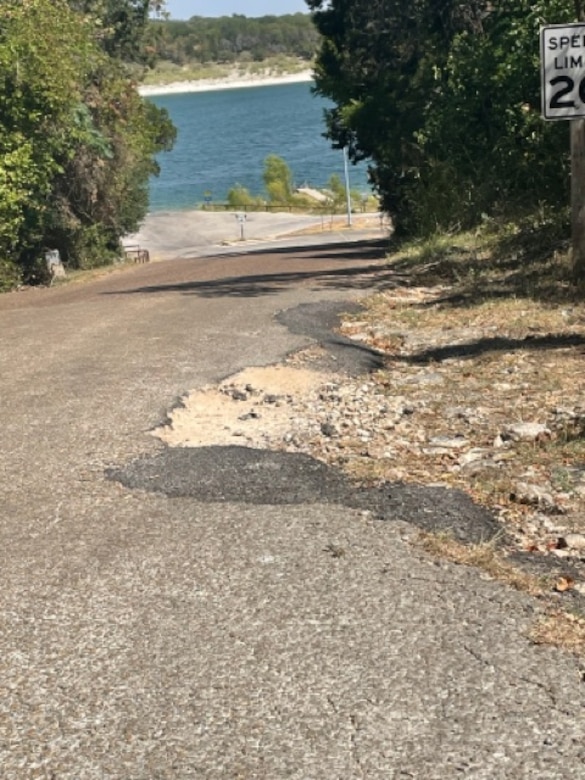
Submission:
<svg viewBox="0 0 585 780">
<path fill-rule="evenodd" d="M 120 237 L 136 230 L 148 209 L 154 155 L 175 137 L 166 112 L 143 100 L 109 59 L 84 97 L 76 114 L 80 140 L 53 182 L 44 236 L 66 263 L 82 268 L 119 254 Z"/>
</svg>

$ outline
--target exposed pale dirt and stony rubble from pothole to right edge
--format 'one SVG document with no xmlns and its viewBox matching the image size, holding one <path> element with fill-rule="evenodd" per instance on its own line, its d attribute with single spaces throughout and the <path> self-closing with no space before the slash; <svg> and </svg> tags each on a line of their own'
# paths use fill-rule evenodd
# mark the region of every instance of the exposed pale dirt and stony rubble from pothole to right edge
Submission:
<svg viewBox="0 0 585 780">
<path fill-rule="evenodd" d="M 194 393 L 157 435 L 303 452 L 370 483 L 463 489 L 499 517 L 511 556 L 585 595 L 582 306 L 458 307 L 448 280 L 391 268 L 386 284 L 342 326 L 383 355 L 367 384 L 310 370 L 321 364 L 312 348 Z"/>
</svg>

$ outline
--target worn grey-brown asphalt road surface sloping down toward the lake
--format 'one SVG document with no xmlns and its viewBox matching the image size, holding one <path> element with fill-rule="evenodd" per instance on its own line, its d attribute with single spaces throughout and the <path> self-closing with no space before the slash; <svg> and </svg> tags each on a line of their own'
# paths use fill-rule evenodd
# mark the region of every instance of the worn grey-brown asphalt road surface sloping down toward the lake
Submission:
<svg viewBox="0 0 585 780">
<path fill-rule="evenodd" d="M 382 521 L 302 458 L 173 468 L 149 435 L 184 392 L 319 337 L 302 307 L 389 283 L 379 257 L 289 247 L 0 296 L 3 780 L 585 776 L 580 664 L 530 643 L 535 601 L 412 545 L 416 492 Z"/>
</svg>

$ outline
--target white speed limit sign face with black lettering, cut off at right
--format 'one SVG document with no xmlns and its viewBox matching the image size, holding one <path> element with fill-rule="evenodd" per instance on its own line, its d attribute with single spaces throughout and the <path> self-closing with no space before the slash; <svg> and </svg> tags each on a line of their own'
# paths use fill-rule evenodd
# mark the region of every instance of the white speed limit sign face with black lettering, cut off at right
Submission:
<svg viewBox="0 0 585 780">
<path fill-rule="evenodd" d="M 585 117 L 585 24 L 540 28 L 542 115 Z"/>
</svg>

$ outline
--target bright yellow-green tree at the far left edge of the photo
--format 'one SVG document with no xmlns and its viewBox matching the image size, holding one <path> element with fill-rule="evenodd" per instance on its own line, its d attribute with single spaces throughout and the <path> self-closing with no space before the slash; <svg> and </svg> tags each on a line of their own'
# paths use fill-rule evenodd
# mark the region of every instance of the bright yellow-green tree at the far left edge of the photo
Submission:
<svg viewBox="0 0 585 780">
<path fill-rule="evenodd" d="M 42 29 L 43 35 L 38 31 Z M 67 133 L 98 56 L 64 2 L 6 0 L 0 9 L 0 258 L 22 272 L 42 243 L 52 184 L 73 154 Z"/>
</svg>

